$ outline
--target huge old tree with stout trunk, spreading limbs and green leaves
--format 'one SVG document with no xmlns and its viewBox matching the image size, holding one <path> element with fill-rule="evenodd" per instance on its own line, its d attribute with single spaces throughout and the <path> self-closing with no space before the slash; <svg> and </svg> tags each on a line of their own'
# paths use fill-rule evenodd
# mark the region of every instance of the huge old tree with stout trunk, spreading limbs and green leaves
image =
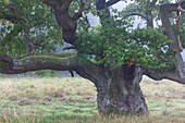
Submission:
<svg viewBox="0 0 185 123">
<path fill-rule="evenodd" d="M 139 86 L 143 75 L 156 81 L 168 78 L 185 84 L 184 62 L 170 23 L 170 13 L 176 11 L 178 4 L 160 5 L 164 30 L 163 27 L 152 28 L 151 10 L 145 11 L 149 16 L 147 20 L 150 20 L 147 21 L 148 29 L 132 29 L 131 22 L 123 20 L 124 16 L 116 13 L 111 15 L 110 7 L 119 1 L 121 0 L 0 2 L 0 19 L 3 29 L 5 28 L 1 34 L 0 72 L 18 74 L 37 70 L 75 71 L 97 87 L 100 113 L 148 114 Z M 152 2 L 156 3 L 155 0 Z M 183 9 L 184 5 L 185 2 L 182 2 Z M 100 17 L 100 26 L 88 29 L 88 17 L 85 17 L 88 12 Z M 86 26 L 77 27 L 77 23 Z M 76 49 L 75 53 L 52 53 L 54 44 L 62 44 L 61 36 Z M 15 47 L 15 42 L 23 48 Z M 47 47 L 41 44 L 47 44 Z M 10 49 L 8 45 L 14 47 Z M 34 48 L 37 56 L 20 59 L 11 57 L 29 53 L 30 46 L 39 46 Z M 22 52 L 15 53 L 17 49 Z"/>
</svg>

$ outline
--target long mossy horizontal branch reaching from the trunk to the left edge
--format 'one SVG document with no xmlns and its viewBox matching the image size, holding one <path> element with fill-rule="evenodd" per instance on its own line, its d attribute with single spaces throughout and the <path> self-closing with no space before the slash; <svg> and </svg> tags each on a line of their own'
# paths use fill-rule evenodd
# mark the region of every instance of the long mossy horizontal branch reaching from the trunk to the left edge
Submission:
<svg viewBox="0 0 185 123">
<path fill-rule="evenodd" d="M 13 65 L 13 67 L 10 67 Z M 12 59 L 0 54 L 0 73 L 20 74 L 38 70 L 75 71 L 81 76 L 96 82 L 98 65 L 76 53 L 54 53 L 48 56 L 32 56 L 23 59 Z"/>
</svg>

